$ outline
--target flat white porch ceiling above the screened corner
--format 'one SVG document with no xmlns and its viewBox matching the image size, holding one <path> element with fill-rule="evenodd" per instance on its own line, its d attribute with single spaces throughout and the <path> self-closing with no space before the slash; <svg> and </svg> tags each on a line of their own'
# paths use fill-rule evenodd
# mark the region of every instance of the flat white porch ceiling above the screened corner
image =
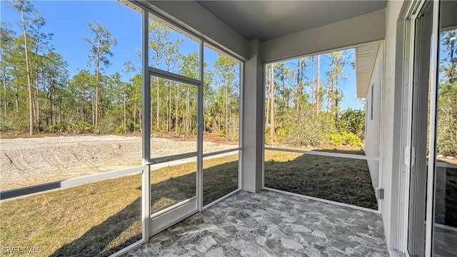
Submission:
<svg viewBox="0 0 457 257">
<path fill-rule="evenodd" d="M 371 1 L 197 1 L 245 39 L 266 41 L 386 8 Z"/>
</svg>

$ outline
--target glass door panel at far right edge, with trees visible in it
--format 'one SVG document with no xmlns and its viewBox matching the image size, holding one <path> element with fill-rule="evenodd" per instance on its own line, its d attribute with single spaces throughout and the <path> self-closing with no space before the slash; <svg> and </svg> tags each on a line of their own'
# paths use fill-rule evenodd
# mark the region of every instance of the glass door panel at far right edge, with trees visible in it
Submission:
<svg viewBox="0 0 457 257">
<path fill-rule="evenodd" d="M 441 1 L 436 112 L 433 256 L 456 256 L 457 242 L 457 9 Z"/>
</svg>

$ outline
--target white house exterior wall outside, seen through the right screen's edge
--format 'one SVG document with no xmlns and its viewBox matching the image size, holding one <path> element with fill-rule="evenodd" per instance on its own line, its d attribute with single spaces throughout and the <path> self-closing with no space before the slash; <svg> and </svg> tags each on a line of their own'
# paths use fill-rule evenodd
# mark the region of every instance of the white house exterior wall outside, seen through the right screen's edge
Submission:
<svg viewBox="0 0 457 257">
<path fill-rule="evenodd" d="M 378 157 L 380 153 L 380 126 L 381 126 L 381 89 L 383 76 L 383 44 L 379 46 L 378 55 L 371 75 L 370 86 L 366 93 L 365 114 L 365 154 L 369 157 Z M 373 96 L 373 98 L 371 98 Z M 373 188 L 378 187 L 379 161 L 367 161 L 370 168 Z"/>
</svg>

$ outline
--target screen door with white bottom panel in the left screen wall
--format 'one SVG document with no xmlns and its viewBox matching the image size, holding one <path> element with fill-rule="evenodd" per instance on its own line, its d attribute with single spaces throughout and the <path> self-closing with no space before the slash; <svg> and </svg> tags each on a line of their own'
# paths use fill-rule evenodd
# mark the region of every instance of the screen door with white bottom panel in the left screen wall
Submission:
<svg viewBox="0 0 457 257">
<path fill-rule="evenodd" d="M 150 236 L 198 211 L 197 92 L 173 74 L 150 72 Z"/>
</svg>

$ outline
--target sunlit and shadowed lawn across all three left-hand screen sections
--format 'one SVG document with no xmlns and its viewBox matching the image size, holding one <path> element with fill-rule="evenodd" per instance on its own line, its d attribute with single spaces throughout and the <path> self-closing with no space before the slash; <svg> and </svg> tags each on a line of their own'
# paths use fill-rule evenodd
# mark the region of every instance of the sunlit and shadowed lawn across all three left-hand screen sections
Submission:
<svg viewBox="0 0 457 257">
<path fill-rule="evenodd" d="M 204 203 L 238 188 L 237 160 L 204 161 Z M 194 196 L 195 171 L 196 163 L 151 171 L 152 211 Z M 139 239 L 141 174 L 0 202 L 0 246 L 34 247 L 34 256 L 109 256 Z"/>
</svg>

